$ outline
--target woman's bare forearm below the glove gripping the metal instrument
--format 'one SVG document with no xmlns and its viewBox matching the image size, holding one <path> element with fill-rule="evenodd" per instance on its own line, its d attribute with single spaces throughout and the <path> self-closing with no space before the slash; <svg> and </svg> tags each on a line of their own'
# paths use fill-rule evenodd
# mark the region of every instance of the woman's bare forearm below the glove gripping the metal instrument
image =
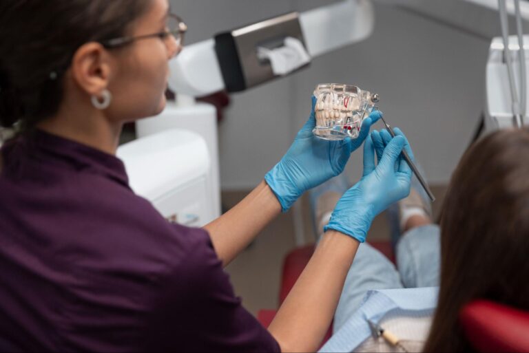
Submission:
<svg viewBox="0 0 529 353">
<path fill-rule="evenodd" d="M 318 350 L 359 245 L 337 231 L 324 234 L 269 327 L 282 352 Z"/>
</svg>

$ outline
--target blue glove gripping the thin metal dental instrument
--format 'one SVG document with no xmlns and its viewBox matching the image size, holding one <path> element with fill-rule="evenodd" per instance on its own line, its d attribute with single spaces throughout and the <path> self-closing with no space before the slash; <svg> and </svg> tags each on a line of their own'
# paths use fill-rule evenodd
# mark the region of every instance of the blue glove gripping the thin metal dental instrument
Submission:
<svg viewBox="0 0 529 353">
<path fill-rule="evenodd" d="M 412 171 L 401 151 L 406 149 L 412 160 L 413 152 L 402 131 L 394 131 L 395 138 L 382 130 L 366 139 L 362 179 L 338 201 L 324 231 L 333 229 L 363 243 L 375 216 L 410 193 Z"/>
</svg>

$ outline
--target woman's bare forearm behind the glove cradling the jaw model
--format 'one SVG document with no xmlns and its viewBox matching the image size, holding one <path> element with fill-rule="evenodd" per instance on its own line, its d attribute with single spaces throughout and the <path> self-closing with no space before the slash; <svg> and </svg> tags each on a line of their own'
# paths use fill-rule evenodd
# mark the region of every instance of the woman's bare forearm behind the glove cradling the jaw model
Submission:
<svg viewBox="0 0 529 353">
<path fill-rule="evenodd" d="M 276 195 L 262 181 L 234 208 L 204 228 L 222 264 L 227 266 L 280 213 Z"/>
</svg>

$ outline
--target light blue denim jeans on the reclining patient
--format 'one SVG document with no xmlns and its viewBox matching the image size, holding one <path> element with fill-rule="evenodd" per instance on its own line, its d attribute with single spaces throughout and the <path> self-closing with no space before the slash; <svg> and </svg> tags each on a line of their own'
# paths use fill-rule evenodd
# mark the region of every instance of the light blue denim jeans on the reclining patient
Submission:
<svg viewBox="0 0 529 353">
<path fill-rule="evenodd" d="M 336 308 L 336 332 L 362 304 L 368 290 L 439 286 L 439 226 L 430 224 L 404 233 L 395 248 L 397 268 L 380 251 L 361 244 L 347 274 Z"/>
</svg>

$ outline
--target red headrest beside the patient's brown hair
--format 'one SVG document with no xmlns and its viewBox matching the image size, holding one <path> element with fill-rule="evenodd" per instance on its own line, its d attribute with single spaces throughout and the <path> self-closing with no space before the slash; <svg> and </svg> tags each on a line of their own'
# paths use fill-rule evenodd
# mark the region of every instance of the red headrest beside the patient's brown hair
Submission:
<svg viewBox="0 0 529 353">
<path fill-rule="evenodd" d="M 529 312 L 477 300 L 461 310 L 459 319 L 479 352 L 529 352 Z"/>
</svg>

